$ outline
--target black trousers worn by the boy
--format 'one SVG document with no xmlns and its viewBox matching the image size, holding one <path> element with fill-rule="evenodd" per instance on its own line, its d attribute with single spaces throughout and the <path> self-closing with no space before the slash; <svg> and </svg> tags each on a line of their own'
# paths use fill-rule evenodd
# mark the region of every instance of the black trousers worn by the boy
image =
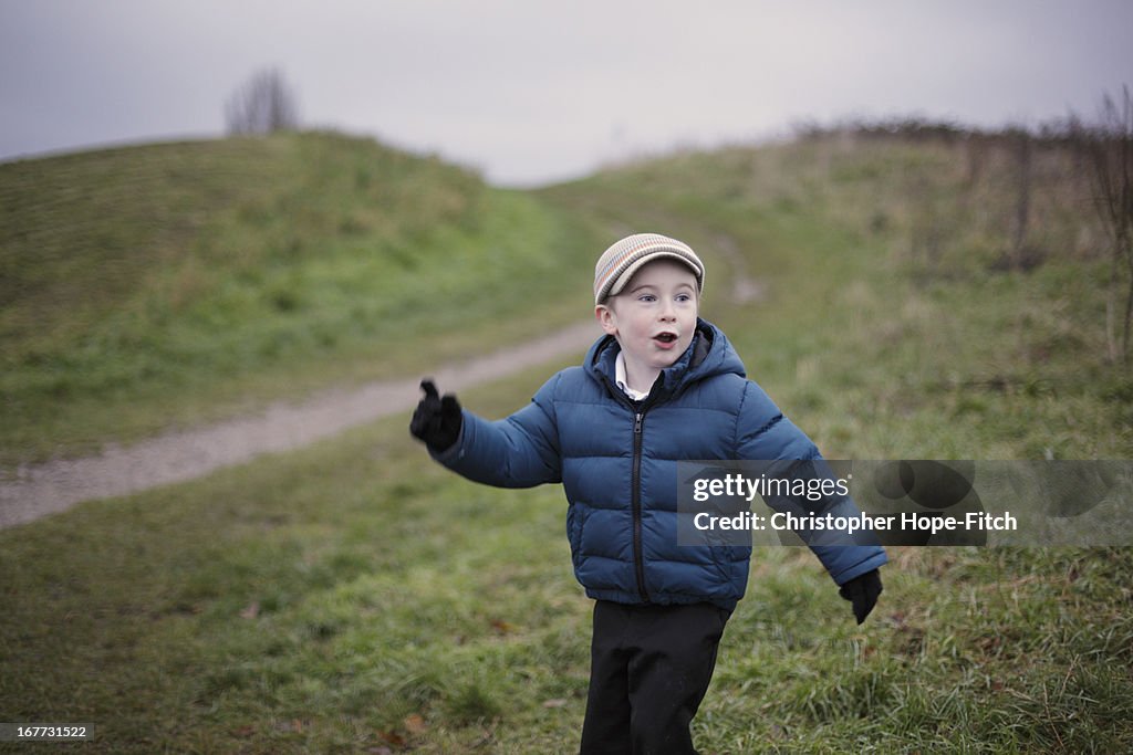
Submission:
<svg viewBox="0 0 1133 755">
<path fill-rule="evenodd" d="M 712 603 L 594 606 L 582 755 L 691 753 L 730 611 Z"/>
</svg>

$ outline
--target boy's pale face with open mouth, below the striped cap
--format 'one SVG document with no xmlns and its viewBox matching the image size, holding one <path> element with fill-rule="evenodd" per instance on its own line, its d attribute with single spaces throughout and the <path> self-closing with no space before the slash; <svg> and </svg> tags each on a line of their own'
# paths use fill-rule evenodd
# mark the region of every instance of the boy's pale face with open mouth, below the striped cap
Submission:
<svg viewBox="0 0 1133 755">
<path fill-rule="evenodd" d="M 627 362 L 661 370 L 692 343 L 697 326 L 697 278 L 671 259 L 648 263 L 616 297 L 595 308 L 604 329 L 617 338 Z"/>
</svg>

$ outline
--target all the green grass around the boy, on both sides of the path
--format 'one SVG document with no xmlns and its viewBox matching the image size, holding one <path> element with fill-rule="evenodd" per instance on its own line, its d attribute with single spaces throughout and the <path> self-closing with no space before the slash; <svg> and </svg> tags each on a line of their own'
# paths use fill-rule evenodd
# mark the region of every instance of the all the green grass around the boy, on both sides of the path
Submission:
<svg viewBox="0 0 1133 755">
<path fill-rule="evenodd" d="M 537 334 L 658 230 L 830 457 L 1127 458 L 1083 177 L 1039 146 L 1019 243 L 1013 154 L 826 135 L 534 192 L 333 135 L 0 166 L 6 455 Z M 502 417 L 559 367 L 461 398 Z M 0 532 L 0 719 L 93 722 L 99 752 L 576 748 L 561 491 L 457 479 L 407 419 Z M 698 746 L 1127 752 L 1126 551 L 894 548 L 855 627 L 808 552 L 757 549 Z"/>
</svg>

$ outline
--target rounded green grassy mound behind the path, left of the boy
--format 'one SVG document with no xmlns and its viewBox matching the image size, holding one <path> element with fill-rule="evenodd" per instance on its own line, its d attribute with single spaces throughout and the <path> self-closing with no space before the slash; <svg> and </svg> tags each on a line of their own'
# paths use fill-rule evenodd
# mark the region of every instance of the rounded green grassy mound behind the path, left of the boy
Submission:
<svg viewBox="0 0 1133 755">
<path fill-rule="evenodd" d="M 421 340 L 468 357 L 585 316 L 577 222 L 369 140 L 12 163 L 0 197 L 9 465 L 400 376 Z"/>
</svg>

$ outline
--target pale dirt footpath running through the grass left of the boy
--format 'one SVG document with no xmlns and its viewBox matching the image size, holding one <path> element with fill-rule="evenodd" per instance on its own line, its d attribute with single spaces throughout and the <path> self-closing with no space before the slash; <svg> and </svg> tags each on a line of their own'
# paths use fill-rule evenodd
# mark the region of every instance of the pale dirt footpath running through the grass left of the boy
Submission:
<svg viewBox="0 0 1133 755">
<path fill-rule="evenodd" d="M 585 351 L 600 331 L 591 320 L 537 341 L 450 364 L 433 372 L 442 391 L 465 391 L 522 369 Z M 195 430 L 170 432 L 97 456 L 22 467 L 0 482 L 0 529 L 66 511 L 77 503 L 125 496 L 247 462 L 261 454 L 300 448 L 348 428 L 404 412 L 417 404 L 420 376 L 321 393 L 300 404 Z M 407 430 L 408 432 L 408 430 Z"/>
</svg>

